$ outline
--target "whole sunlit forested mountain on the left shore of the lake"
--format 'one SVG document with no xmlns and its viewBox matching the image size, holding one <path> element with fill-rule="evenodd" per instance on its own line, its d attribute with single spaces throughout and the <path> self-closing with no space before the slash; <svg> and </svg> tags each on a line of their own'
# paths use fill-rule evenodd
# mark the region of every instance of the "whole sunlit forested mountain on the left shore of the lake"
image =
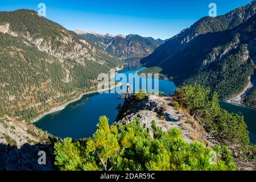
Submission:
<svg viewBox="0 0 256 182">
<path fill-rule="evenodd" d="M 22 119 L 92 90 L 119 61 L 31 10 L 0 12 L 1 113 Z"/>
</svg>

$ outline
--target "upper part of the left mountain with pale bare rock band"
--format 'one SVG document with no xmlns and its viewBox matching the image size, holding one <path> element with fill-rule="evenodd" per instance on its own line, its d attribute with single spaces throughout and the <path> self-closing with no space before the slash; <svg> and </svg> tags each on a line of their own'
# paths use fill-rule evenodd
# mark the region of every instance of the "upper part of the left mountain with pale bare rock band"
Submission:
<svg viewBox="0 0 256 182">
<path fill-rule="evenodd" d="M 61 63 L 72 59 L 85 65 L 85 61 L 105 64 L 113 59 L 107 52 L 94 47 L 59 24 L 39 17 L 35 11 L 17 10 L 1 13 L 0 32 L 24 38 L 28 46 L 57 57 Z M 104 59 L 105 58 L 105 59 Z"/>
</svg>

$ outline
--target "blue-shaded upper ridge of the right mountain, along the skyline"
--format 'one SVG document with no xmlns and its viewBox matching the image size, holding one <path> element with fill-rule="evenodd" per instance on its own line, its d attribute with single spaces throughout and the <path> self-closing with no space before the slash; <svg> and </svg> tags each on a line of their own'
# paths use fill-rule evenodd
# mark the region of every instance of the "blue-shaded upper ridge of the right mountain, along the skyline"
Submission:
<svg viewBox="0 0 256 182">
<path fill-rule="evenodd" d="M 141 62 L 147 67 L 160 65 L 163 61 L 171 61 L 171 56 L 181 51 L 184 47 L 201 34 L 230 30 L 239 24 L 245 22 L 255 14 L 256 2 L 240 7 L 230 13 L 212 18 L 205 16 L 193 24 L 191 27 L 184 29 L 166 43 L 159 46 L 150 56 L 147 56 Z M 218 39 L 220 40 L 220 39 Z"/>
</svg>

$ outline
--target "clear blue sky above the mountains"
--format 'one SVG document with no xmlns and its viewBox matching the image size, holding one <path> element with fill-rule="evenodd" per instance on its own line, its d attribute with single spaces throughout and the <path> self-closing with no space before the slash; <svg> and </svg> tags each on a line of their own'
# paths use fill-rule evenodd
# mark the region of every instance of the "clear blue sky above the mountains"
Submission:
<svg viewBox="0 0 256 182">
<path fill-rule="evenodd" d="M 1 0 L 0 11 L 38 11 L 38 4 L 45 3 L 46 18 L 68 30 L 167 39 L 207 16 L 211 2 L 217 5 L 217 15 L 222 15 L 251 0 Z"/>
</svg>

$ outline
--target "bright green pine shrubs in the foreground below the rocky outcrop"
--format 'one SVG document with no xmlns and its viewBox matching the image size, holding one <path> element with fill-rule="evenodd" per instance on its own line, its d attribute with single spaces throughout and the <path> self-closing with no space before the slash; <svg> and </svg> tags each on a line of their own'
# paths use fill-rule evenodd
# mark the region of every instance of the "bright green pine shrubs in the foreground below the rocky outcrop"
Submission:
<svg viewBox="0 0 256 182">
<path fill-rule="evenodd" d="M 108 118 L 100 117 L 97 126 L 96 133 L 86 142 L 66 138 L 55 143 L 55 164 L 60 170 L 236 169 L 226 148 L 188 143 L 177 128 L 163 133 L 152 122 L 152 139 L 138 118 L 127 125 L 109 126 Z"/>
</svg>

